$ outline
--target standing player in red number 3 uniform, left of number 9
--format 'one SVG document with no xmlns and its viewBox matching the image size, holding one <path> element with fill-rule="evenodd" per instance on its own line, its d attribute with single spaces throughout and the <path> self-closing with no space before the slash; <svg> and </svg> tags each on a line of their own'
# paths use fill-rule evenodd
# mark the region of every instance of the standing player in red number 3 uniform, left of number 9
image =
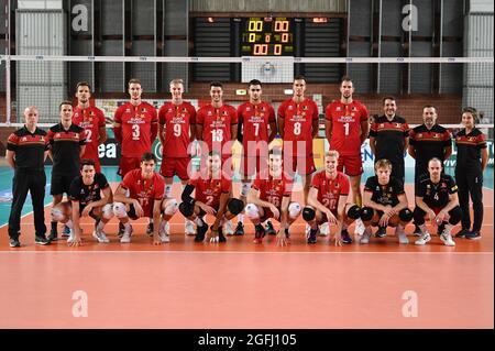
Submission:
<svg viewBox="0 0 495 351">
<path fill-rule="evenodd" d="M 141 167 L 141 156 L 151 152 L 153 142 L 158 132 L 158 117 L 153 106 L 142 101 L 141 81 L 131 79 L 128 84 L 131 100 L 120 106 L 113 117 L 113 133 L 121 145 L 119 174 L 124 176 Z M 153 223 L 150 222 L 147 232 L 153 232 Z M 119 227 L 119 233 L 123 227 Z"/>
</svg>

